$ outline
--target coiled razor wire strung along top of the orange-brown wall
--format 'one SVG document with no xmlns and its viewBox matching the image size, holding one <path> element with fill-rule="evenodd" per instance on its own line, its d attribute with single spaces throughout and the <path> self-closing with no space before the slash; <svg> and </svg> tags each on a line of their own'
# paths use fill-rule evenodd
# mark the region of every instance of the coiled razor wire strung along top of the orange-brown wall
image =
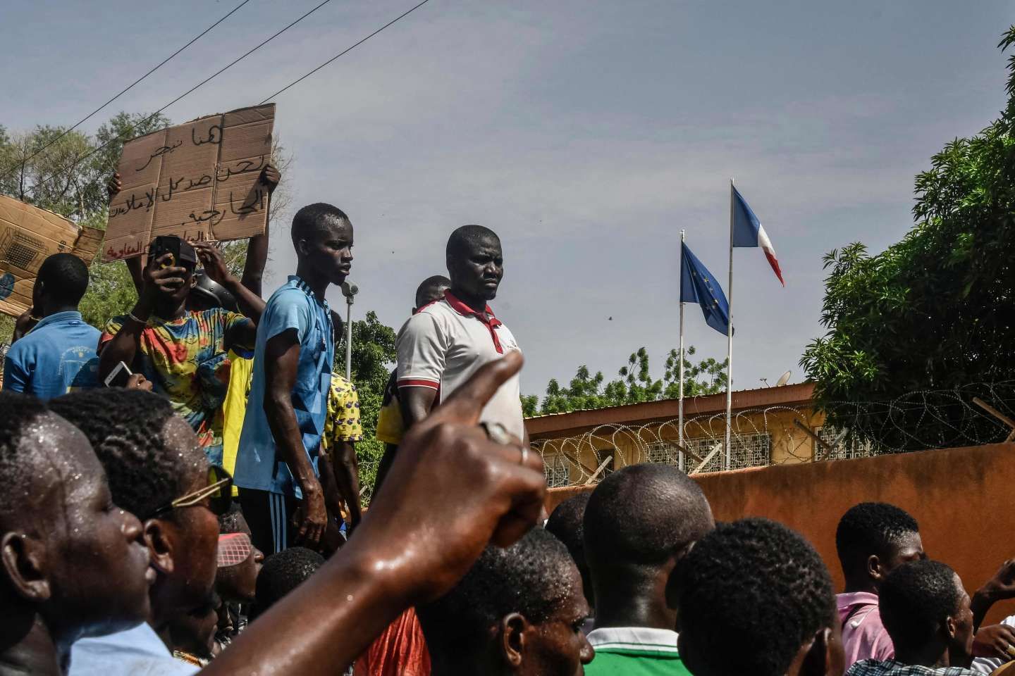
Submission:
<svg viewBox="0 0 1015 676">
<path fill-rule="evenodd" d="M 976 401 L 1015 420 L 1015 380 L 924 389 L 881 401 L 829 401 L 736 410 L 731 418 L 731 469 L 977 446 L 1015 435 Z M 532 443 L 551 487 L 596 483 L 614 467 L 637 462 L 680 466 L 688 473 L 720 471 L 725 463 L 726 411 L 679 423 L 603 424 L 570 437 Z"/>
</svg>

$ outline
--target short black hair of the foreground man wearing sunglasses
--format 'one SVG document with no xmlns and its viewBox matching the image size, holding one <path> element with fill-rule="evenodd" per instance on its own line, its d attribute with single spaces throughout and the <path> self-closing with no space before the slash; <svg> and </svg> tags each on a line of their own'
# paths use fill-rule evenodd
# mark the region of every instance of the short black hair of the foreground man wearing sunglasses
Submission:
<svg viewBox="0 0 1015 676">
<path fill-rule="evenodd" d="M 91 442 L 118 507 L 143 519 L 187 487 L 190 463 L 200 451 L 187 457 L 166 447 L 163 429 L 174 416 L 167 399 L 108 387 L 64 394 L 50 400 L 50 407 Z"/>
</svg>

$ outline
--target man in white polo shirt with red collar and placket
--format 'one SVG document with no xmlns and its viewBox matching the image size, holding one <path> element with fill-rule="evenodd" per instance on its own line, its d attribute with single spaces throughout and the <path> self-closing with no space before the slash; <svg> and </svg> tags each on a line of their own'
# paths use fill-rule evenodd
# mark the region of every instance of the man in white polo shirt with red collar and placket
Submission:
<svg viewBox="0 0 1015 676">
<path fill-rule="evenodd" d="M 398 392 L 408 429 L 484 364 L 519 350 L 515 336 L 487 305 L 503 277 L 500 238 L 481 225 L 463 225 L 448 239 L 451 288 L 398 333 Z M 481 421 L 499 423 L 526 439 L 518 375 L 500 386 Z"/>
</svg>

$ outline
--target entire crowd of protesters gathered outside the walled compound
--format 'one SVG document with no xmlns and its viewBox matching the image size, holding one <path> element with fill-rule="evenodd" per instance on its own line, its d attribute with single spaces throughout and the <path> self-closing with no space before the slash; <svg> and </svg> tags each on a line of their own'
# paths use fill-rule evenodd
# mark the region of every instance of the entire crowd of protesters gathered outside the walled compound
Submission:
<svg viewBox="0 0 1015 676">
<path fill-rule="evenodd" d="M 523 359 L 488 305 L 501 243 L 478 225 L 399 331 L 362 510 L 326 300 L 352 223 L 313 204 L 291 239 L 265 301 L 267 232 L 240 278 L 211 243 L 156 238 L 101 329 L 77 309 L 85 265 L 40 268 L 0 391 L 0 675 L 964 676 L 1015 658 L 1015 617 L 984 625 L 1015 560 L 969 596 L 891 505 L 841 517 L 837 596 L 800 534 L 717 523 L 669 465 L 547 515 Z"/>
</svg>

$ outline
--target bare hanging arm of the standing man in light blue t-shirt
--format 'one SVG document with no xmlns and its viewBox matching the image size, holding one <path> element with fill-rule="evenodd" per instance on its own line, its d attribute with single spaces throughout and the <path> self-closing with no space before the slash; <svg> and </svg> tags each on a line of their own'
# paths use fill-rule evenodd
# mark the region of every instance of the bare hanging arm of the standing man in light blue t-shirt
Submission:
<svg viewBox="0 0 1015 676">
<path fill-rule="evenodd" d="M 314 467 L 303 447 L 302 435 L 292 408 L 292 388 L 296 383 L 299 364 L 299 337 L 295 328 L 289 328 L 268 339 L 264 350 L 264 372 L 267 387 L 264 393 L 264 412 L 268 427 L 275 439 L 279 458 L 292 472 L 292 477 L 302 492 L 300 523 L 297 539 L 314 548 L 328 525 L 324 491 L 314 474 Z"/>
</svg>

